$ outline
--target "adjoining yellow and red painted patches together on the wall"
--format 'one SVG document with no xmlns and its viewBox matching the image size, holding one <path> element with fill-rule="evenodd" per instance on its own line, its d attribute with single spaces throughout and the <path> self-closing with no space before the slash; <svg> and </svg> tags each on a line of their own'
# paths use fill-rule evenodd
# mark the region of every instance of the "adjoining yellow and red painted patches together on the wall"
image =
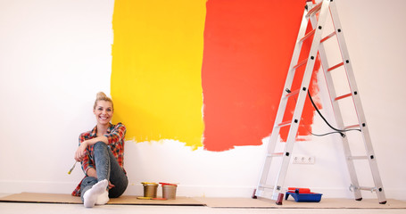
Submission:
<svg viewBox="0 0 406 214">
<path fill-rule="evenodd" d="M 303 4 L 116 0 L 114 122 L 137 142 L 174 139 L 217 152 L 261 144 L 272 130 Z M 307 129 L 312 116 L 306 107 Z M 299 134 L 309 135 L 304 128 Z"/>
</svg>

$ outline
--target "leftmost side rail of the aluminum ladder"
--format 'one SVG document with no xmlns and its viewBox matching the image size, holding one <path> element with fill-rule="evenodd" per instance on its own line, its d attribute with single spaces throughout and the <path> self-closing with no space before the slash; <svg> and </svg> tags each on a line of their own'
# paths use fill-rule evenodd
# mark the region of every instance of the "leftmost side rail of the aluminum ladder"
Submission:
<svg viewBox="0 0 406 214">
<path fill-rule="evenodd" d="M 299 56 L 300 56 L 300 53 L 302 50 L 302 43 L 299 43 L 299 41 L 300 41 L 301 37 L 304 37 L 306 28 L 308 25 L 308 19 L 306 19 L 305 16 L 306 16 L 306 10 L 304 10 L 304 12 L 303 12 L 301 27 L 299 29 L 298 37 L 296 38 L 296 44 L 294 45 L 293 57 L 290 62 L 290 65 L 289 65 L 289 70 L 288 70 L 288 73 L 286 76 L 285 87 L 283 88 L 281 100 L 279 101 L 277 117 L 274 122 L 274 127 L 272 128 L 272 133 L 269 137 L 267 155 L 265 157 L 264 164 L 261 169 L 261 171 L 262 171 L 261 177 L 260 177 L 260 181 L 258 182 L 257 191 L 255 193 L 255 196 L 260 196 L 261 191 L 259 191 L 259 190 L 261 189 L 261 185 L 265 185 L 267 182 L 267 179 L 268 179 L 269 168 L 270 168 L 271 159 L 272 159 L 272 157 L 269 157 L 268 154 L 275 151 L 275 147 L 278 142 L 278 136 L 279 136 L 279 131 L 280 131 L 278 124 L 280 124 L 284 118 L 286 104 L 287 104 L 287 99 L 284 99 L 284 97 L 286 97 L 286 95 L 287 95 L 287 92 L 285 91 L 285 89 L 290 88 L 292 86 L 292 83 L 294 80 L 294 74 L 295 74 L 294 65 L 299 61 Z"/>
</svg>

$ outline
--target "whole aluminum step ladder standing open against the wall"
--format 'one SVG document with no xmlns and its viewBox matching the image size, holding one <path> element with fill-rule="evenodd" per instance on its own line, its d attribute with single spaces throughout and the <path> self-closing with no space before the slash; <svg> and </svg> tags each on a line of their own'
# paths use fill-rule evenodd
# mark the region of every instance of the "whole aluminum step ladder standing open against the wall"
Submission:
<svg viewBox="0 0 406 214">
<path fill-rule="evenodd" d="M 329 34 L 327 37 L 322 37 L 327 17 L 331 17 L 331 21 L 334 25 L 334 32 Z M 311 28 L 311 31 L 306 30 L 308 28 Z M 324 42 L 331 37 L 336 37 L 343 61 L 330 67 L 327 62 L 327 54 Z M 304 41 L 309 39 L 312 39 L 310 53 L 308 54 L 309 57 L 305 60 L 302 60 L 301 62 L 298 62 L 299 57 L 302 53 L 302 44 Z M 302 24 L 299 30 L 296 45 L 294 47 L 292 61 L 290 63 L 288 74 L 286 77 L 284 92 L 279 103 L 275 125 L 269 138 L 268 151 L 264 161 L 263 169 L 261 171 L 261 178 L 257 188 L 254 190 L 253 198 L 267 198 L 267 196 L 265 196 L 267 191 L 272 191 L 270 199 L 277 201 L 276 203 L 279 205 L 282 204 L 284 193 L 286 192 L 286 187 L 284 187 L 286 172 L 288 169 L 289 161 L 292 157 L 294 142 L 296 140 L 296 135 L 302 118 L 304 102 L 309 90 L 311 75 L 313 73 L 314 65 L 318 56 L 321 61 L 324 75 L 326 77 L 328 93 L 330 95 L 333 111 L 335 112 L 336 116 L 336 125 L 338 126 L 338 128 L 344 130 L 348 128 L 359 128 L 360 135 L 362 135 L 363 143 L 365 145 L 366 155 L 352 156 L 350 144 L 347 139 L 348 137 L 346 137 L 345 135 L 342 135 L 341 137 L 344 145 L 344 156 L 346 158 L 347 168 L 351 179 L 350 190 L 354 193 L 354 198 L 357 201 L 362 200 L 362 195 L 360 193 L 361 190 L 376 192 L 378 202 L 381 204 L 385 204 L 386 199 L 384 187 L 382 185 L 382 181 L 377 169 L 376 155 L 372 148 L 368 124 L 362 110 L 360 93 L 355 83 L 355 78 L 352 72 L 352 62 L 345 45 L 343 29 L 338 19 L 338 14 L 336 12 L 336 1 L 334 0 L 322 0 L 321 2 L 319 2 L 319 4 L 316 4 L 314 0 L 307 0 L 306 2 L 305 10 L 302 17 Z M 303 76 L 302 78 L 299 78 L 302 79 L 302 84 L 298 88 L 292 88 L 295 70 L 302 66 L 305 66 Z M 331 73 L 334 72 L 337 68 L 343 67 L 344 73 L 346 73 L 347 76 L 346 81 L 348 81 L 350 88 L 349 90 L 351 91 L 349 91 L 345 95 L 336 95 Z M 292 98 L 295 99 L 296 103 L 294 107 L 293 117 L 290 120 L 283 121 L 286 112 L 286 103 L 289 99 Z M 342 111 L 340 111 L 340 107 L 338 104 L 338 101 L 344 99 L 352 99 L 353 106 L 358 117 L 358 124 L 344 127 Z M 280 143 L 280 139 L 278 139 L 278 137 L 280 135 L 280 129 L 282 127 L 289 128 L 289 132 L 286 138 L 286 143 L 283 146 L 283 151 L 278 152 L 276 150 L 280 151 L 280 148 L 276 149 L 276 145 L 278 142 Z M 375 183 L 374 187 L 365 187 L 359 185 L 354 161 L 360 160 L 369 161 L 369 168 L 371 170 L 372 178 Z M 272 165 L 272 163 L 274 164 Z M 269 170 L 271 167 L 273 169 L 271 174 L 273 175 L 269 175 Z M 278 173 L 274 173 L 276 171 L 275 169 L 278 169 Z M 267 184 L 267 179 L 269 178 L 269 176 L 273 176 L 275 178 L 273 185 Z"/>
</svg>

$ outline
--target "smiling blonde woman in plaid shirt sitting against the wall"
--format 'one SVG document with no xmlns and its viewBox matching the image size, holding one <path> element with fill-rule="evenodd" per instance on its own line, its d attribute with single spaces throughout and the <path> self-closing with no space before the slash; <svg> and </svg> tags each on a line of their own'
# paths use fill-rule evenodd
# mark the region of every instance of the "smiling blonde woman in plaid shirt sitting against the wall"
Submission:
<svg viewBox="0 0 406 214">
<path fill-rule="evenodd" d="M 112 99 L 97 93 L 93 107 L 97 125 L 79 136 L 75 160 L 81 162 L 85 177 L 72 195 L 80 195 L 87 208 L 120 197 L 128 185 L 123 168 L 126 127 L 121 123 L 112 125 L 113 111 Z"/>
</svg>

